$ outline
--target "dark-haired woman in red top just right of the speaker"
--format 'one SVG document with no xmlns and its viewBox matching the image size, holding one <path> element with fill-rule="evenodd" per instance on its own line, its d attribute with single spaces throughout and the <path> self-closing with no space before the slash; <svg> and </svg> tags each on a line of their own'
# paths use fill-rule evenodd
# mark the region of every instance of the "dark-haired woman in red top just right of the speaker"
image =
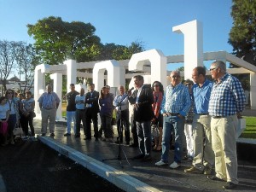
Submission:
<svg viewBox="0 0 256 192">
<path fill-rule="evenodd" d="M 154 118 L 152 119 L 152 124 L 158 125 L 159 136 L 154 136 L 154 151 L 162 150 L 162 131 L 163 131 L 163 115 L 160 113 L 160 106 L 164 96 L 163 84 L 159 81 L 154 81 L 152 84 L 154 103 L 152 104 L 152 110 L 154 112 Z"/>
</svg>

